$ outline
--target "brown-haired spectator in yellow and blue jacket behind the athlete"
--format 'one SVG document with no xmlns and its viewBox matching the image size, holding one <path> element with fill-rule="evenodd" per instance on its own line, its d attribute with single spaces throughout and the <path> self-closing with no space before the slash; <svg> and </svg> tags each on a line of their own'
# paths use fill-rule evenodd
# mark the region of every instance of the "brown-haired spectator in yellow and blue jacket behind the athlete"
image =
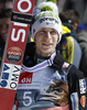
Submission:
<svg viewBox="0 0 87 110">
<path fill-rule="evenodd" d="M 58 48 L 65 62 L 74 64 L 78 68 L 81 57 L 81 50 L 76 41 L 79 14 L 75 10 L 67 10 L 61 12 L 59 16 L 63 22 L 63 37 Z"/>
</svg>

